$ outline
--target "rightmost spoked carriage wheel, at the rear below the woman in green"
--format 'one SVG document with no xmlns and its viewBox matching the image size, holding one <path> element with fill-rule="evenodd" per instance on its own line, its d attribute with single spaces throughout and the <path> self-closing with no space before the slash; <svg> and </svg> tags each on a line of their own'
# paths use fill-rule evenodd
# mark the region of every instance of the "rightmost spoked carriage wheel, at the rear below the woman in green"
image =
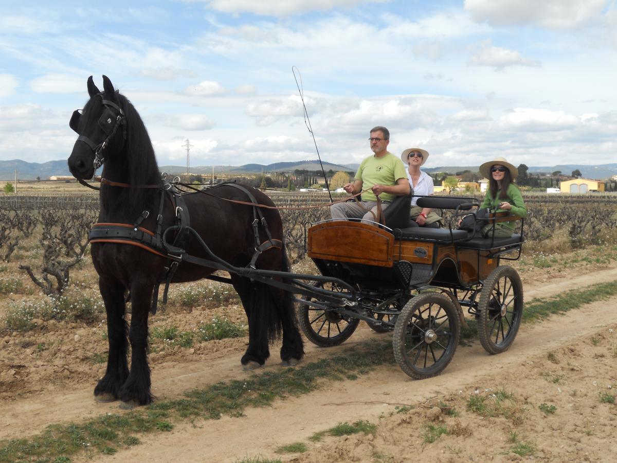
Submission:
<svg viewBox="0 0 617 463">
<path fill-rule="evenodd" d="M 478 335 L 489 354 L 499 354 L 513 343 L 523 317 L 523 283 L 516 270 L 501 265 L 482 286 L 478 304 Z"/>
</svg>

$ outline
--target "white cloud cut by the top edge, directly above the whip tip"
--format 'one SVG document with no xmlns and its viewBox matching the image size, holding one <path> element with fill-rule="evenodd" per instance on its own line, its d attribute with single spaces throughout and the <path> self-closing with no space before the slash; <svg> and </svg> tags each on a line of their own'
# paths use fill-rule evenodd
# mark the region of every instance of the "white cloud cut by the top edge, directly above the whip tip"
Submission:
<svg viewBox="0 0 617 463">
<path fill-rule="evenodd" d="M 390 0 L 207 0 L 210 8 L 225 13 L 254 13 L 288 16 L 336 7 L 354 7 L 365 3 L 386 3 Z"/>
</svg>

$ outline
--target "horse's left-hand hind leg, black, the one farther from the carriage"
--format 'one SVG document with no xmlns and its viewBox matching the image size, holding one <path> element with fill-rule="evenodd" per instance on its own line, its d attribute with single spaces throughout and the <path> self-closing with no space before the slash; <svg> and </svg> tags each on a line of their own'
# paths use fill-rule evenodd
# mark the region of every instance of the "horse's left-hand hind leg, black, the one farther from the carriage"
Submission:
<svg viewBox="0 0 617 463">
<path fill-rule="evenodd" d="M 249 346 L 241 359 L 245 370 L 251 370 L 263 365 L 270 357 L 268 348 L 268 332 L 270 320 L 265 311 L 260 310 L 260 299 L 268 288 L 263 283 L 251 282 L 248 278 L 231 275 L 233 287 L 244 306 L 244 312 L 249 321 Z"/>
</svg>

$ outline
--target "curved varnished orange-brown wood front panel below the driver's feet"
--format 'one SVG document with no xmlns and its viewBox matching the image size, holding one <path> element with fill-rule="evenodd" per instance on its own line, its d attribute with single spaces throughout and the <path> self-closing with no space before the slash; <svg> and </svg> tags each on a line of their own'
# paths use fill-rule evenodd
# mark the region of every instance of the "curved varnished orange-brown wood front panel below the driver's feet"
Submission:
<svg viewBox="0 0 617 463">
<path fill-rule="evenodd" d="M 312 259 L 392 267 L 394 236 L 365 223 L 326 222 L 309 228 Z"/>
</svg>

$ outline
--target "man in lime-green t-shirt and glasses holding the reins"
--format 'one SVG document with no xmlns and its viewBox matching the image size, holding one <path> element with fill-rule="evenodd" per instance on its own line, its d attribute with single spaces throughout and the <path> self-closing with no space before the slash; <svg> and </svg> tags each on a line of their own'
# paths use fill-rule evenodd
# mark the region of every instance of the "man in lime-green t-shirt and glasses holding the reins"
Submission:
<svg viewBox="0 0 617 463">
<path fill-rule="evenodd" d="M 390 143 L 390 131 L 386 127 L 374 127 L 370 131 L 371 151 L 355 173 L 354 183 L 343 186 L 349 194 L 362 193 L 362 201 L 338 202 L 330 208 L 333 219 L 362 219 L 363 223 L 375 223 L 378 220 L 377 197 L 381 199 L 384 211 L 395 196 L 410 193 L 405 166 L 399 158 L 387 151 Z"/>
</svg>

